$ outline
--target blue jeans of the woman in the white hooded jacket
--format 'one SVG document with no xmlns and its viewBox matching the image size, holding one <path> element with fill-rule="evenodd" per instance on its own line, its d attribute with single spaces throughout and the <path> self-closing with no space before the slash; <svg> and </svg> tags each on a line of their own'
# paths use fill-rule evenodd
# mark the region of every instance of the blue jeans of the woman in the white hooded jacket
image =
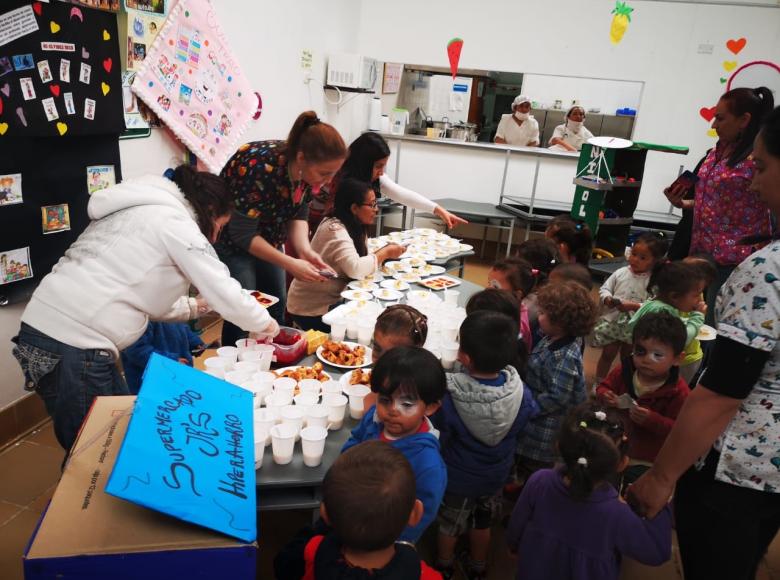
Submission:
<svg viewBox="0 0 780 580">
<path fill-rule="evenodd" d="M 130 394 L 111 351 L 68 346 L 24 323 L 12 340 L 24 388 L 43 399 L 57 441 L 66 451 L 95 397 Z"/>
</svg>

